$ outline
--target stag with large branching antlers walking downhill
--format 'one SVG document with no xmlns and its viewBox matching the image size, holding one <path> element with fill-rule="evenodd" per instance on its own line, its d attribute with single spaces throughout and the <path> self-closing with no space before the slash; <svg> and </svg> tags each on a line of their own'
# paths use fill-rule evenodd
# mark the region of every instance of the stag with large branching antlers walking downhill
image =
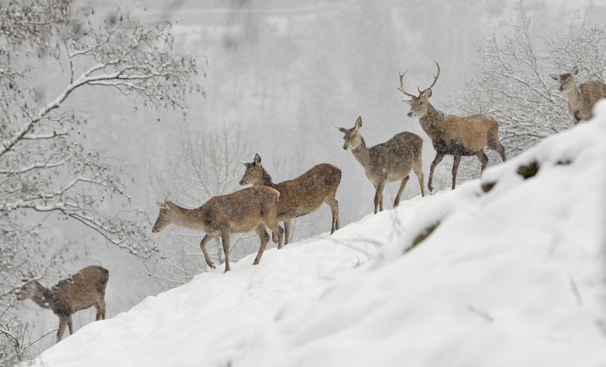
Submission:
<svg viewBox="0 0 606 367">
<path fill-rule="evenodd" d="M 428 88 L 421 90 L 417 87 L 418 96 L 404 90 L 402 78 L 404 78 L 406 71 L 404 71 L 404 74 L 399 74 L 400 87 L 398 88 L 399 91 L 411 98 L 410 100 L 402 99 L 402 102 L 410 105 L 408 117 L 419 119 L 421 127 L 430 137 L 431 144 L 436 150 L 436 157 L 431 162 L 427 183 L 431 192 L 433 192 L 433 171 L 446 155 L 454 157 L 452 190 L 456 187 L 456 174 L 462 156 L 478 157 L 482 164 L 481 173 L 488 165 L 488 157 L 484 153 L 484 147 L 499 153 L 503 162 L 507 160 L 505 148 L 499 142 L 499 125 L 496 118 L 486 114 L 474 114 L 466 117 L 445 115 L 431 105 L 429 102 L 432 94 L 431 88 L 436 85 L 440 76 L 440 64 L 437 61 L 434 62 L 438 67 L 438 74 L 434 76 L 433 83 Z"/>
</svg>

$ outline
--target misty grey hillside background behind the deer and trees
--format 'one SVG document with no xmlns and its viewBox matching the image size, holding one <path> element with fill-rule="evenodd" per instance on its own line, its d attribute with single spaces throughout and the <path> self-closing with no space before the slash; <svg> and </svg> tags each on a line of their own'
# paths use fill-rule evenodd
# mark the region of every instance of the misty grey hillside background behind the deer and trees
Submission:
<svg viewBox="0 0 606 367">
<path fill-rule="evenodd" d="M 513 0 L 77 4 L 95 8 L 99 17 L 126 4 L 148 26 L 172 19 L 176 51 L 198 56 L 204 70 L 199 75 L 204 96 L 188 96 L 185 117 L 178 111 L 150 110 L 141 105 L 135 108 L 136 99 L 95 87 L 87 87 L 86 93 L 67 101 L 85 110 L 85 146 L 127 162 L 127 191 L 132 200 L 128 208 L 108 207 L 107 211 L 141 208 L 150 223 L 158 216 L 155 202 L 165 199 L 154 185 L 155 177 L 161 177 L 167 165 L 178 159 L 175 151 L 180 139 L 199 137 L 198 142 L 204 144 L 208 134 L 224 127 L 233 128 L 245 143 L 246 151 L 237 159 L 251 162 L 259 153 L 275 182 L 293 179 L 323 162 L 341 168 L 342 180 L 336 195 L 341 226 L 372 213 L 375 189 L 353 154 L 342 149 L 342 133 L 335 125 L 353 127 L 361 116 L 361 134 L 368 147 L 401 131 L 419 134 L 424 139 L 427 185 L 435 151 L 418 119 L 406 116 L 410 108 L 401 102 L 404 96 L 396 89 L 398 73 L 408 70 L 404 87 L 416 91 L 417 85 L 425 88 L 433 81 L 436 68 L 432 60 L 439 61 L 441 76 L 433 88 L 432 104 L 438 110 L 457 113 L 445 106 L 461 98 L 465 80 L 476 73 L 470 63 L 476 58 L 472 45 L 481 45 L 484 37 L 493 33 L 504 36 L 508 16 L 516 15 Z M 565 31 L 574 16 L 586 18 L 588 24 L 602 25 L 606 19 L 606 5 L 598 0 L 527 0 L 523 4 L 533 27 L 545 36 Z M 67 74 L 55 77 L 67 78 Z M 554 81 L 553 88 L 557 87 Z M 438 190 L 450 188 L 451 162 L 448 157 L 436 168 L 437 176 L 446 177 L 445 184 L 436 182 Z M 464 165 L 480 164 L 475 158 L 464 158 L 461 166 Z M 244 174 L 244 166 L 238 169 Z M 398 187 L 399 182 L 386 186 L 386 210 L 391 209 Z M 236 181 L 228 191 L 240 188 Z M 416 179 L 411 177 L 402 201 L 418 194 Z M 198 202 L 169 199 L 194 208 L 208 197 L 201 194 Z M 313 224 L 308 227 L 313 230 L 311 234 L 329 231 L 328 206 L 323 205 L 306 220 Z M 74 240 L 81 253 L 73 272 L 86 265 L 109 269 L 107 317 L 127 311 L 162 289 L 148 276 L 148 270 L 125 251 L 88 234 L 77 224 L 61 225 L 64 227 L 58 228 L 58 238 Z M 151 233 L 151 226 L 148 231 Z M 200 233 L 197 241 L 202 237 Z M 151 239 L 161 250 L 170 245 L 163 233 Z M 249 240 L 258 248 L 258 237 Z M 270 242 L 268 246 L 276 245 Z M 205 268 L 202 257 L 199 266 L 200 271 Z M 50 286 L 55 282 L 56 279 L 48 279 L 42 284 Z M 50 311 L 42 311 L 31 302 L 22 307 L 29 310 L 38 327 L 56 326 L 57 319 Z M 76 330 L 94 317 L 94 310 L 75 314 Z M 52 337 L 47 339 L 46 347 L 53 342 Z"/>
</svg>

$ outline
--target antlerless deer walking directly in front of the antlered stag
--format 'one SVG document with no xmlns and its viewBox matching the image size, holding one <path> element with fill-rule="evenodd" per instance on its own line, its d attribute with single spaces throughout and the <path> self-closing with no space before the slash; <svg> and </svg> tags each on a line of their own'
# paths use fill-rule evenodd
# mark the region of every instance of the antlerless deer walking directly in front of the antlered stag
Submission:
<svg viewBox="0 0 606 367">
<path fill-rule="evenodd" d="M 385 182 L 402 180 L 393 202 L 393 207 L 398 207 L 402 191 L 410 179 L 411 170 L 415 172 L 419 180 L 421 196 L 425 196 L 422 171 L 423 139 L 417 134 L 405 131 L 395 134 L 384 143 L 367 148 L 364 137 L 360 134 L 361 127 L 362 117 L 358 116 L 353 128 L 347 129 L 339 126 L 336 128 L 344 134 L 343 149 L 351 150 L 353 156 L 364 168 L 366 177 L 375 187 L 375 214 L 383 211 Z"/>
</svg>

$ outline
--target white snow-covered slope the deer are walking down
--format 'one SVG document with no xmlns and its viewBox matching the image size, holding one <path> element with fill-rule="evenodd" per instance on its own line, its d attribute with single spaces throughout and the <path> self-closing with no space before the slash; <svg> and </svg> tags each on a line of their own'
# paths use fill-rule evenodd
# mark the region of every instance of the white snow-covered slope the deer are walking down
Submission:
<svg viewBox="0 0 606 367">
<path fill-rule="evenodd" d="M 455 191 L 148 297 L 37 363 L 606 366 L 606 102 L 596 114 Z"/>
</svg>

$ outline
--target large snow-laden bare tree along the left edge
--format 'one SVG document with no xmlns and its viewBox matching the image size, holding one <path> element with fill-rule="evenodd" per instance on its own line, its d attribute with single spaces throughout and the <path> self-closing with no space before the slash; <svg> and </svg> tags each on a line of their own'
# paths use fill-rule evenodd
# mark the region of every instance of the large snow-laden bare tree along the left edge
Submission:
<svg viewBox="0 0 606 367">
<path fill-rule="evenodd" d="M 199 69 L 172 50 L 170 22 L 145 28 L 125 7 L 98 19 L 68 0 L 0 7 L 0 302 L 24 272 L 42 277 L 73 256 L 56 245 L 67 222 L 130 254 L 158 253 L 142 211 L 126 209 L 125 163 L 86 147 L 71 97 L 94 86 L 185 114 L 185 95 L 203 93 Z"/>
</svg>

